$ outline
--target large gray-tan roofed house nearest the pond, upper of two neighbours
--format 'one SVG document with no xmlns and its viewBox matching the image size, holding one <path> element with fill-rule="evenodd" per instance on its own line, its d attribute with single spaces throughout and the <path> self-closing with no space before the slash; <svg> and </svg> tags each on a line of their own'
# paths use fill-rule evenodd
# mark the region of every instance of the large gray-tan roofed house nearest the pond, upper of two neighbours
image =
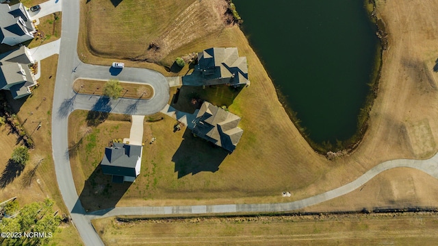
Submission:
<svg viewBox="0 0 438 246">
<path fill-rule="evenodd" d="M 203 75 L 206 86 L 248 84 L 248 64 L 245 56 L 239 56 L 237 48 L 210 48 L 198 53 L 196 67 Z"/>
</svg>

